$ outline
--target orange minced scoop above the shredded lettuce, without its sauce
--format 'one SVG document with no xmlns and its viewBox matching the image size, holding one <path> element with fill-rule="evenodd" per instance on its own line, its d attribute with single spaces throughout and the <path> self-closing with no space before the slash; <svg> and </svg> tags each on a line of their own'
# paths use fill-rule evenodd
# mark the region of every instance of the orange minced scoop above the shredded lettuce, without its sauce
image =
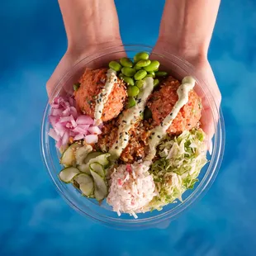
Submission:
<svg viewBox="0 0 256 256">
<path fill-rule="evenodd" d="M 164 118 L 173 110 L 174 104 L 178 101 L 178 87 L 180 82 L 169 76 L 161 85 L 159 91 L 151 94 L 147 106 L 152 112 L 154 124 L 159 126 Z M 191 130 L 198 126 L 201 118 L 201 98 L 192 90 L 188 95 L 188 102 L 178 112 L 178 116 L 173 120 L 168 128 L 169 135 L 181 134 L 183 130 Z"/>
</svg>

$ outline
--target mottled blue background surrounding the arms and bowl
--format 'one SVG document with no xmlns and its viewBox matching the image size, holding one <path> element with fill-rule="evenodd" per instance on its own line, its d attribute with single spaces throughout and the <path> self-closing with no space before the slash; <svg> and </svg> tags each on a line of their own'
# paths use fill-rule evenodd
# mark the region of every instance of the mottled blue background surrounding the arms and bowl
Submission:
<svg viewBox="0 0 256 256">
<path fill-rule="evenodd" d="M 124 43 L 154 45 L 164 1 L 116 7 Z M 254 0 L 223 1 L 211 40 L 226 127 L 216 182 L 178 220 L 120 231 L 69 208 L 40 158 L 45 83 L 66 49 L 57 1 L 1 1 L 0 255 L 255 255 L 255 10 Z"/>
</svg>

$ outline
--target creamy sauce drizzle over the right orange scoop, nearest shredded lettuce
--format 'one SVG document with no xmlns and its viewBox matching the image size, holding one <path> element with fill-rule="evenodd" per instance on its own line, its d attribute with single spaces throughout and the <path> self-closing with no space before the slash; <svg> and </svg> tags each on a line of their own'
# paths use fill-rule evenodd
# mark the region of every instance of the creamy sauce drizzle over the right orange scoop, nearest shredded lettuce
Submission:
<svg viewBox="0 0 256 256">
<path fill-rule="evenodd" d="M 179 86 L 178 93 L 178 102 L 173 106 L 172 111 L 164 118 L 164 121 L 160 126 L 156 126 L 154 129 L 150 130 L 149 136 L 149 154 L 145 158 L 145 160 L 150 161 L 154 159 L 154 155 L 156 154 L 156 146 L 159 145 L 160 140 L 163 139 L 164 135 L 166 135 L 166 130 L 168 127 L 172 125 L 173 120 L 178 115 L 178 112 L 181 108 L 187 104 L 188 102 L 188 93 L 195 86 L 195 79 L 191 76 L 187 76 L 183 78 L 182 84 Z"/>
</svg>

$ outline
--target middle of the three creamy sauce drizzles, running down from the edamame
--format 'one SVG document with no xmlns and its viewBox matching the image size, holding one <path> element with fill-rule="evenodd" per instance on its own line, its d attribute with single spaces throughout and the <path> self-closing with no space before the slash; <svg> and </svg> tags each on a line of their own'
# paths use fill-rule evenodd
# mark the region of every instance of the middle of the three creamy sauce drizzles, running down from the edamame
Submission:
<svg viewBox="0 0 256 256">
<path fill-rule="evenodd" d="M 120 157 L 121 152 L 126 148 L 126 145 L 128 145 L 130 139 L 128 131 L 135 125 L 141 113 L 145 110 L 146 101 L 153 89 L 153 78 L 145 78 L 145 85 L 140 89 L 136 105 L 123 111 L 123 116 L 121 116 L 121 119 L 119 120 L 120 125 L 118 127 L 116 141 L 109 151 L 113 158 L 116 159 Z"/>
</svg>

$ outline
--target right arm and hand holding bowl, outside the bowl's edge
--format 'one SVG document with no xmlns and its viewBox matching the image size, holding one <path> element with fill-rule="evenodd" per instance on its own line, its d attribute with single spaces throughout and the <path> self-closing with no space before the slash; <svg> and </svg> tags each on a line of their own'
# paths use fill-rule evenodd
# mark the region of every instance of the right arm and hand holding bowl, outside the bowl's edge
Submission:
<svg viewBox="0 0 256 256">
<path fill-rule="evenodd" d="M 187 60 L 196 69 L 196 76 L 206 82 L 206 95 L 196 87 L 202 99 L 203 111 L 201 126 L 208 138 L 208 149 L 211 153 L 211 138 L 215 132 L 218 120 L 221 95 L 211 65 L 207 59 L 207 52 L 211 34 L 216 22 L 220 0 L 179 0 L 167 1 L 161 21 L 159 39 L 154 47 L 157 53 L 168 52 Z M 187 75 L 189 75 L 187 73 Z M 206 97 L 211 98 L 209 102 Z M 211 106 L 216 102 L 214 113 Z"/>
</svg>

